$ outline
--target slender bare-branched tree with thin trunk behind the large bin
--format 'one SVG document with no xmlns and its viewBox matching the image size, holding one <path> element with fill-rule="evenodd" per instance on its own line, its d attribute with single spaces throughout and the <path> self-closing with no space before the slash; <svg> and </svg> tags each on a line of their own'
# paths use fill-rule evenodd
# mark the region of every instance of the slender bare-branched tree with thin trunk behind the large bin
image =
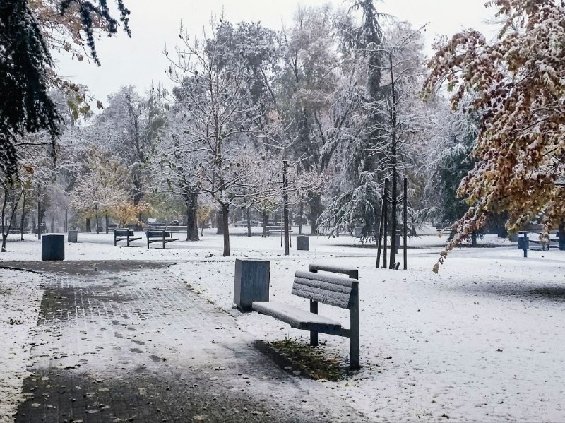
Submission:
<svg viewBox="0 0 565 423">
<path fill-rule="evenodd" d="M 213 21 L 209 35 L 191 40 L 184 28 L 182 45 L 169 57 L 167 74 L 175 83 L 172 102 L 186 111 L 178 150 L 198 160 L 186 169 L 198 193 L 211 196 L 222 211 L 223 254 L 230 255 L 230 209 L 253 189 L 250 180 L 261 159 L 249 133 L 258 129 L 261 109 L 251 101 L 251 80 L 242 61 L 225 61 L 228 39 Z M 166 91 L 165 91 L 166 94 Z M 252 189 L 253 188 L 253 189 Z"/>
</svg>

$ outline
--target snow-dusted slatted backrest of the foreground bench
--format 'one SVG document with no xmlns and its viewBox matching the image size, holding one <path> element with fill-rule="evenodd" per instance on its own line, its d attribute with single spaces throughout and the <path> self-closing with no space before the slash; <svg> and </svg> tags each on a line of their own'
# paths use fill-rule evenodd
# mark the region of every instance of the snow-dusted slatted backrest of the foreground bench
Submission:
<svg viewBox="0 0 565 423">
<path fill-rule="evenodd" d="M 292 294 L 341 309 L 352 309 L 359 298 L 359 281 L 299 270 L 292 285 Z"/>
</svg>

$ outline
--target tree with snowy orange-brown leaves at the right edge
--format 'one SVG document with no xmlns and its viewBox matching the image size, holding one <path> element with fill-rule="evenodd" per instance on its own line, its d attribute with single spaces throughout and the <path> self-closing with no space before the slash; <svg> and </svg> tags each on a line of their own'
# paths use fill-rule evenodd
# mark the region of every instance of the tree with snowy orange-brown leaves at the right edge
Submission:
<svg viewBox="0 0 565 423">
<path fill-rule="evenodd" d="M 453 36 L 429 62 L 427 95 L 446 81 L 453 109 L 465 95 L 480 114 L 475 169 L 459 193 L 470 208 L 458 220 L 448 251 L 482 227 L 489 214 L 508 211 L 518 230 L 545 211 L 548 227 L 565 237 L 565 5 L 554 0 L 494 0 L 503 25 L 487 42 L 476 30 Z"/>
</svg>

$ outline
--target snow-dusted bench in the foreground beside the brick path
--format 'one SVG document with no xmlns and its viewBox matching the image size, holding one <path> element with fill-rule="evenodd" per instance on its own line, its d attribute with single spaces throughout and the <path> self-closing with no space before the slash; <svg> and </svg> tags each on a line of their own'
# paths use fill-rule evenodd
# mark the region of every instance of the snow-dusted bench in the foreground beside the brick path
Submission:
<svg viewBox="0 0 565 423">
<path fill-rule="evenodd" d="M 310 300 L 310 311 L 290 304 L 276 302 L 253 302 L 252 308 L 288 323 L 293 328 L 310 331 L 310 345 L 318 345 L 318 333 L 350 338 L 350 367 L 359 369 L 359 280 L 356 269 L 311 264 L 309 272 L 297 271 L 292 285 L 292 294 Z M 318 270 L 345 273 L 350 278 L 335 275 L 320 275 Z M 349 309 L 350 327 L 331 318 L 319 316 L 318 303 Z"/>
</svg>

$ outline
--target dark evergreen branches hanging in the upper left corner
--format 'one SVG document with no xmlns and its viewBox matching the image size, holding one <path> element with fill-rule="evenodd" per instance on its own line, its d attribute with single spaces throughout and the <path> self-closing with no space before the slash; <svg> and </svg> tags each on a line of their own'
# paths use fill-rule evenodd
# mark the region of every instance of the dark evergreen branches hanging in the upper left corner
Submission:
<svg viewBox="0 0 565 423">
<path fill-rule="evenodd" d="M 94 40 L 94 28 L 102 26 L 109 34 L 117 31 L 117 20 L 109 14 L 107 0 L 63 0 L 55 2 L 61 15 L 81 20 L 90 52 L 99 64 Z M 129 32 L 129 11 L 117 0 L 120 20 Z M 0 2 L 0 177 L 17 177 L 18 136 L 47 130 L 52 138 L 60 135 L 57 107 L 49 98 L 49 87 L 56 84 L 54 64 L 45 40 L 44 21 L 38 20 L 35 10 L 44 10 L 44 1 L 2 0 Z M 53 8 L 53 4 L 48 5 Z M 37 9 L 36 9 L 37 8 Z M 81 37 L 79 36 L 80 40 Z M 56 151 L 55 148 L 52 149 Z"/>
</svg>

